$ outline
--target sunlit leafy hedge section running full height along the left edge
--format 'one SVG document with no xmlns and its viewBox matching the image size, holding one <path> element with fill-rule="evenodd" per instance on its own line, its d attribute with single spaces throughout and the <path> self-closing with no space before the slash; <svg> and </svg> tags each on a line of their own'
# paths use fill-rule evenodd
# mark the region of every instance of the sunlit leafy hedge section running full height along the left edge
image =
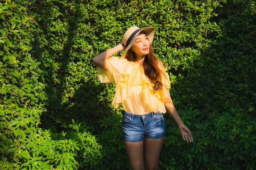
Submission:
<svg viewBox="0 0 256 170">
<path fill-rule="evenodd" d="M 0 166 L 3 169 L 25 166 L 25 158 L 29 156 L 27 145 L 34 142 L 31 139 L 37 134 L 40 115 L 46 111 L 43 71 L 31 53 L 34 34 L 40 31 L 34 21 L 36 14 L 27 9 L 31 3 L 34 2 L 0 4 Z"/>
</svg>

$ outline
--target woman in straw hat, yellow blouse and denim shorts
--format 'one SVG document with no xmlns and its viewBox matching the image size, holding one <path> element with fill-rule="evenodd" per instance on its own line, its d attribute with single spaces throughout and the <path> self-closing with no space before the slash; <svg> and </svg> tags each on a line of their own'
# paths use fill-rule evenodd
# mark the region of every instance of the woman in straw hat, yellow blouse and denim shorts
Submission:
<svg viewBox="0 0 256 170">
<path fill-rule="evenodd" d="M 131 170 L 157 170 L 166 135 L 163 114 L 167 110 L 178 124 L 185 141 L 192 142 L 190 130 L 177 114 L 170 97 L 170 80 L 161 61 L 153 55 L 155 27 L 132 26 L 122 42 L 92 59 L 102 83 L 115 82 L 112 104 L 122 104 L 123 134 Z M 110 57 L 124 50 L 121 58 Z M 143 145 L 145 143 L 145 163 Z"/>
</svg>

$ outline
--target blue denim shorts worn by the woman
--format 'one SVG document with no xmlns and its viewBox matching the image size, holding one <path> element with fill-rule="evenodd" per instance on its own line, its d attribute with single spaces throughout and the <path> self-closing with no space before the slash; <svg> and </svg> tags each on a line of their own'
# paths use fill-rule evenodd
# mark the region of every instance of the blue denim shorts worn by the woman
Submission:
<svg viewBox="0 0 256 170">
<path fill-rule="evenodd" d="M 166 135 L 163 113 L 135 115 L 123 111 L 123 136 L 128 142 L 143 141 L 144 137 L 158 139 Z"/>
</svg>

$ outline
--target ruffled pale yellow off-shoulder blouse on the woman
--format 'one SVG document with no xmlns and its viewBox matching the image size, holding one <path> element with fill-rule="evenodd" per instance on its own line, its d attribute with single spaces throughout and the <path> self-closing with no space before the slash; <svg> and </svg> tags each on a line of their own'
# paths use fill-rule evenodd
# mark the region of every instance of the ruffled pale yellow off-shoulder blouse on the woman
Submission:
<svg viewBox="0 0 256 170">
<path fill-rule="evenodd" d="M 144 115 L 150 112 L 166 113 L 164 98 L 171 101 L 169 89 L 170 79 L 165 68 L 160 68 L 163 88 L 154 93 L 153 83 L 144 74 L 144 68 L 135 62 L 124 58 L 110 57 L 106 60 L 108 69 L 97 67 L 101 83 L 115 82 L 115 97 L 112 105 L 118 108 L 120 104 L 126 112 Z"/>
</svg>

